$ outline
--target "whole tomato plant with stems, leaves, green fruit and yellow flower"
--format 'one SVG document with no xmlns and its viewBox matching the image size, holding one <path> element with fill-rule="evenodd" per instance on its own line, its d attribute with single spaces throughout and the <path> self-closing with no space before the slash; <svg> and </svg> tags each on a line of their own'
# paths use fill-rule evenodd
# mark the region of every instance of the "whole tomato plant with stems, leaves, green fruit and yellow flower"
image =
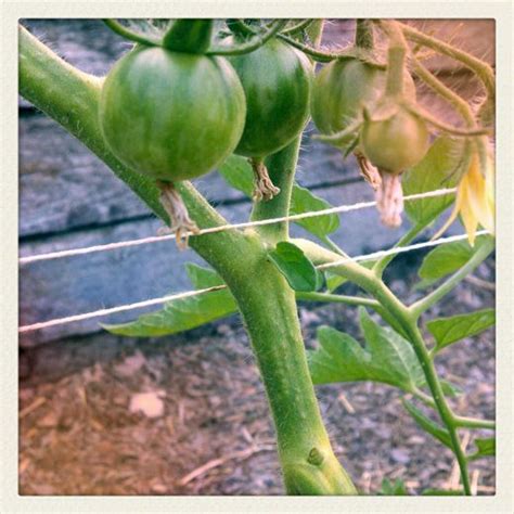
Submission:
<svg viewBox="0 0 514 514">
<path fill-rule="evenodd" d="M 107 24 L 136 47 L 105 79 L 65 64 L 22 28 L 21 93 L 102 158 L 178 239 L 184 228 L 188 234 L 196 227 L 208 229 L 191 237 L 192 248 L 213 268 L 196 277 L 195 286 L 216 284 L 218 290 L 215 297 L 198 292 L 194 301 L 177 300 L 106 327 L 121 335 L 165 335 L 239 311 L 266 387 L 288 493 L 358 493 L 334 453 L 313 383 L 367 380 L 398 388 L 409 415 L 454 454 L 462 492 L 470 494 L 468 463 L 490 455 L 493 438 L 476 439 L 477 451 L 466 453 L 459 431 L 494 431 L 496 425 L 454 411 L 448 397 L 457 395 L 455 388 L 441 378 L 435 361 L 442 349 L 490 326 L 493 316 L 463 313 L 458 320 L 432 319 L 426 326 L 423 320 L 494 248 L 490 66 L 393 20 L 358 21 L 355 44 L 336 52 L 320 48 L 322 20 L 230 20 L 216 30 L 208 20 L 160 21 L 142 31 L 116 21 Z M 387 41 L 386 52 L 374 48 L 377 30 Z M 484 85 L 478 110 L 424 66 L 420 47 L 473 72 Z M 324 67 L 318 69 L 310 103 L 313 63 Z M 454 108 L 461 126 L 417 104 L 411 73 Z M 433 290 L 415 303 L 402 301 L 383 278 L 394 252 L 359 262 L 332 242 L 338 227 L 333 211 L 316 220 L 294 218 L 321 244 L 290 236 L 290 215 L 330 207 L 294 182 L 309 105 L 323 132 L 319 139 L 358 152 L 386 224 L 402 221 L 402 180 L 408 194 L 421 195 L 406 206 L 411 227 L 398 245 L 427 230 L 455 200 L 451 191 L 432 197 L 433 190 L 450 182 L 458 188 L 450 219 L 462 216 L 471 244 L 448 245 L 445 266 L 438 248 L 427 254 L 420 275 L 432 281 Z M 429 130 L 437 132 L 432 144 Z M 252 157 L 254 169 L 241 156 Z M 253 172 L 260 174 L 268 190 L 260 197 L 254 194 L 249 229 L 228 229 L 188 181 L 215 167 L 248 195 Z M 268 170 L 280 192 L 262 179 Z M 479 227 L 488 233 L 477 235 Z M 358 286 L 358 295 L 334 292 L 347 281 Z M 297 301 L 358 306 L 365 346 L 325 327 L 319 332 L 321 348 L 307 354 Z M 448 326 L 457 326 L 451 337 Z"/>
</svg>

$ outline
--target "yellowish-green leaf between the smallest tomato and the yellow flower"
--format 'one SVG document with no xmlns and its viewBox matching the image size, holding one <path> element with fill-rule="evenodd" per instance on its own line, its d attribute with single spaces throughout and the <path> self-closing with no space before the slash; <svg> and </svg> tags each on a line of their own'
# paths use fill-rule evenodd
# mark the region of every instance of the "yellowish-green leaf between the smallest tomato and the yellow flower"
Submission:
<svg viewBox="0 0 514 514">
<path fill-rule="evenodd" d="M 447 136 L 436 139 L 423 160 L 404 174 L 403 194 L 408 196 L 453 188 L 459 178 L 459 174 L 454 171 L 459 167 L 463 150 L 462 139 L 451 139 Z M 447 209 L 454 200 L 454 194 L 411 200 L 406 202 L 404 209 L 413 223 L 427 224 Z"/>
</svg>

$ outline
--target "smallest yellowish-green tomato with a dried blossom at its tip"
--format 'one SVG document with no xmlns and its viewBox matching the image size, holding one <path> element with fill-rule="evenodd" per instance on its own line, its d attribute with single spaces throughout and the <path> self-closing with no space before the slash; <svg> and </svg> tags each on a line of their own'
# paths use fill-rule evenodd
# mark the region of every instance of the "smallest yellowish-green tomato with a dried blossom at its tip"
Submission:
<svg viewBox="0 0 514 514">
<path fill-rule="evenodd" d="M 401 106 L 387 119 L 365 119 L 360 146 L 373 166 L 400 174 L 416 165 L 428 150 L 425 123 Z"/>
</svg>

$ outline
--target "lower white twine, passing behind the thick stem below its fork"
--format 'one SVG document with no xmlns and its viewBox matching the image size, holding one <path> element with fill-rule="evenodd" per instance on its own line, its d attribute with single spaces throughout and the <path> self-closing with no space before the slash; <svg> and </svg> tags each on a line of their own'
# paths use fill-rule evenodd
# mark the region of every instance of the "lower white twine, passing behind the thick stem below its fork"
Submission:
<svg viewBox="0 0 514 514">
<path fill-rule="evenodd" d="M 483 235 L 483 234 L 487 234 L 487 233 L 489 233 L 487 230 L 480 230 L 476 233 L 476 235 Z M 454 241 L 462 241 L 462 240 L 465 240 L 465 239 L 467 239 L 467 234 L 451 235 L 451 236 L 448 236 L 448 237 L 440 237 L 440 239 L 434 240 L 434 241 L 425 241 L 423 243 L 416 243 L 416 244 L 412 244 L 412 245 L 409 245 L 409 246 L 397 246 L 397 247 L 385 249 L 385 250 L 374 252 L 372 254 L 358 255 L 356 257 L 347 257 L 347 258 L 338 259 L 334 262 L 327 262 L 325 265 L 319 265 L 319 266 L 317 266 L 317 268 L 322 270 L 322 269 L 337 267 L 337 266 L 343 265 L 343 264 L 348 262 L 348 261 L 358 262 L 358 261 L 361 261 L 361 260 L 372 260 L 372 259 L 380 258 L 380 257 L 386 257 L 388 255 L 400 254 L 400 253 L 403 253 L 403 252 L 411 252 L 413 249 L 426 248 L 426 247 L 429 247 L 429 246 L 438 246 L 440 244 L 448 244 L 448 243 L 452 243 Z M 138 301 L 136 304 L 128 304 L 128 305 L 123 305 L 123 306 L 118 306 L 118 307 L 112 307 L 110 309 L 100 309 L 100 310 L 95 310 L 95 311 L 92 311 L 92 312 L 86 312 L 86 313 L 82 313 L 82 314 L 75 314 L 75 316 L 69 316 L 69 317 L 66 317 L 66 318 L 59 318 L 59 319 L 54 319 L 54 320 L 50 320 L 50 321 L 43 321 L 41 323 L 35 323 L 35 324 L 31 324 L 31 325 L 21 326 L 18 329 L 18 332 L 20 333 L 34 332 L 34 331 L 41 330 L 41 329 L 48 329 L 49 326 L 56 326 L 56 325 L 63 325 L 63 324 L 66 324 L 66 323 L 72 323 L 74 321 L 82 321 L 82 320 L 88 320 L 90 318 L 102 318 L 102 317 L 113 314 L 113 313 L 116 313 L 116 312 L 141 309 L 143 307 L 149 307 L 149 306 L 158 305 L 158 304 L 165 304 L 166 301 L 171 301 L 171 300 L 176 300 L 176 299 L 180 299 L 180 298 L 187 298 L 189 296 L 203 295 L 205 293 L 210 293 L 213 291 L 224 290 L 226 287 L 227 287 L 226 285 L 216 285 L 214 287 L 207 287 L 205 290 L 188 291 L 188 292 L 178 293 L 178 294 L 175 294 L 175 295 L 163 296 L 160 298 L 152 298 L 152 299 L 144 300 L 144 301 Z"/>
</svg>

